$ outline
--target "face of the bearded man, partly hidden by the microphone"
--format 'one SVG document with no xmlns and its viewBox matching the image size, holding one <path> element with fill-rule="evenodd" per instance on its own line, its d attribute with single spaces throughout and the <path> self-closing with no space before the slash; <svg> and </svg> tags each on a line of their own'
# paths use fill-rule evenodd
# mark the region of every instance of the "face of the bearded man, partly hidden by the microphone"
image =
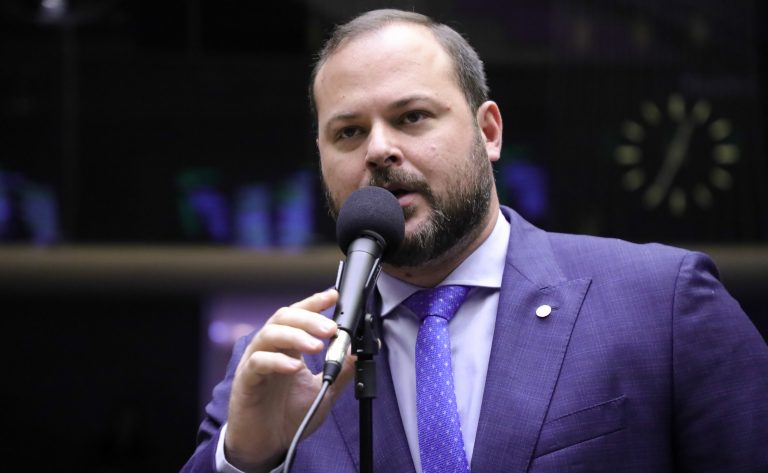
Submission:
<svg viewBox="0 0 768 473">
<path fill-rule="evenodd" d="M 427 28 L 395 23 L 355 38 L 314 87 L 331 211 L 362 186 L 392 191 L 406 238 L 391 264 L 429 261 L 482 223 L 494 190 L 485 143 Z"/>
</svg>

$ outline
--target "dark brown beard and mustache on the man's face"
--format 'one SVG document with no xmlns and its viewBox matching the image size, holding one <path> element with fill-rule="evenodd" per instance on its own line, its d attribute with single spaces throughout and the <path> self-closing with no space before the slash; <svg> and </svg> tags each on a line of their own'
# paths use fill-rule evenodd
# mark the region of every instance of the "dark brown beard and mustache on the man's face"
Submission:
<svg viewBox="0 0 768 473">
<path fill-rule="evenodd" d="M 427 219 L 405 235 L 397 250 L 387 256 L 386 263 L 395 267 L 421 266 L 459 251 L 480 233 L 490 207 L 494 180 L 485 143 L 477 129 L 468 154 L 468 159 L 456 169 L 461 179 L 445 195 L 436 195 L 426 180 L 400 168 L 379 167 L 372 171 L 368 185 L 397 184 L 424 197 L 430 207 Z M 335 220 L 341 204 L 333 199 L 325 181 L 323 185 L 326 204 Z M 406 220 L 415 212 L 412 207 L 405 208 Z"/>
</svg>

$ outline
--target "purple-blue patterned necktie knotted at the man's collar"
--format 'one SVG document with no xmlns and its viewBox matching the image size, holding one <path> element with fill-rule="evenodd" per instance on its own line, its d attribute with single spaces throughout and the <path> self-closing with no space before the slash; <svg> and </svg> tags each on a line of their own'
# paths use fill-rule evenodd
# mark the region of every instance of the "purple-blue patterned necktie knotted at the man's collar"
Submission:
<svg viewBox="0 0 768 473">
<path fill-rule="evenodd" d="M 469 292 L 467 286 L 418 291 L 403 302 L 421 319 L 416 337 L 416 421 L 423 473 L 467 473 L 448 321 Z"/>
</svg>

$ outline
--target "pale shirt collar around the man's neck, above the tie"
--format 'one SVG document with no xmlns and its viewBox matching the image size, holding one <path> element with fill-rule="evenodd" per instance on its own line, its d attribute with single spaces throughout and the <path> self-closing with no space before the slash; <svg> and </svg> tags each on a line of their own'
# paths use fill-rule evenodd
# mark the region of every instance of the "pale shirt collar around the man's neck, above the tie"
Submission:
<svg viewBox="0 0 768 473">
<path fill-rule="evenodd" d="M 462 284 L 501 288 L 504 261 L 509 244 L 509 222 L 499 212 L 496 225 L 486 240 L 439 285 Z M 381 314 L 386 316 L 408 296 L 423 289 L 382 272 L 376 287 L 381 294 Z"/>
</svg>

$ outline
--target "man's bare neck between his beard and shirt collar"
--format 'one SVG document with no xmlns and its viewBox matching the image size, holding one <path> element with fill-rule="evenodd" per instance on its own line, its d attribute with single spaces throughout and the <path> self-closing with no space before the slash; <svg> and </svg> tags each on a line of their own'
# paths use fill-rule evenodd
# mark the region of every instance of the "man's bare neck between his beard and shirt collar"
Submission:
<svg viewBox="0 0 768 473">
<path fill-rule="evenodd" d="M 435 287 L 483 244 L 496 226 L 498 216 L 499 204 L 494 199 L 484 221 L 439 257 L 421 266 L 395 267 L 385 264 L 382 268 L 390 276 L 415 286 Z"/>
</svg>

